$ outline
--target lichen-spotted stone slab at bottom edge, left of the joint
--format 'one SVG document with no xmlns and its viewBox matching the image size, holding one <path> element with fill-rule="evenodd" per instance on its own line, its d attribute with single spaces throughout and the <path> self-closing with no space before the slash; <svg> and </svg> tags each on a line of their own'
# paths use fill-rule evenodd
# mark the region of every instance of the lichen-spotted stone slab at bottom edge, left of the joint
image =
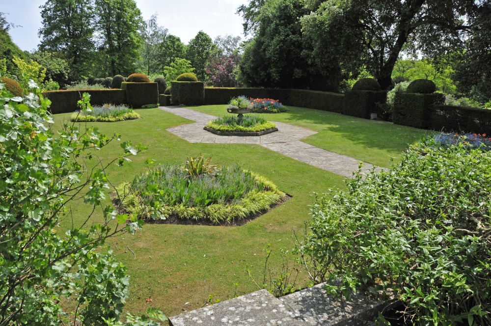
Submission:
<svg viewBox="0 0 491 326">
<path fill-rule="evenodd" d="M 170 317 L 170 326 L 307 326 L 266 290 Z"/>
</svg>

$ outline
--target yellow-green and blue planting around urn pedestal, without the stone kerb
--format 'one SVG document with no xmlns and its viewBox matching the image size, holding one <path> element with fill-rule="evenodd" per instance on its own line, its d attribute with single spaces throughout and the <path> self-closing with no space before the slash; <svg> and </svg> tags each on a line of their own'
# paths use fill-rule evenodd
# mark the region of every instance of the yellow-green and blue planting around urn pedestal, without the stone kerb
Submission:
<svg viewBox="0 0 491 326">
<path fill-rule="evenodd" d="M 246 114 L 241 118 L 236 115 L 225 115 L 210 121 L 205 128 L 220 132 L 257 133 L 276 128 L 273 122 L 257 114 Z"/>
</svg>

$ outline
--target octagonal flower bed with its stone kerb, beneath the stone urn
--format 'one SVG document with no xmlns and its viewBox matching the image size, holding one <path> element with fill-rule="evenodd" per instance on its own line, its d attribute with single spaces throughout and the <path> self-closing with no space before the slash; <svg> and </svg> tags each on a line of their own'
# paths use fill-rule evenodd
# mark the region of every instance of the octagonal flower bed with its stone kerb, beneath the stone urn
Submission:
<svg viewBox="0 0 491 326">
<path fill-rule="evenodd" d="M 225 115 L 210 121 L 205 130 L 224 136 L 262 136 L 278 131 L 276 125 L 258 114 Z"/>
</svg>

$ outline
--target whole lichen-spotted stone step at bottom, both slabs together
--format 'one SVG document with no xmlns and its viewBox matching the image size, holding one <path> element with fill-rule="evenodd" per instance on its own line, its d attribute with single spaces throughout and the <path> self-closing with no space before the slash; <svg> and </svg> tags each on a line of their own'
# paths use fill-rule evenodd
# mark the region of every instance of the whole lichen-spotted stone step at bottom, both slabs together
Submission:
<svg viewBox="0 0 491 326">
<path fill-rule="evenodd" d="M 379 311 L 397 300 L 375 301 L 365 294 L 352 300 L 327 295 L 325 284 L 274 298 L 266 290 L 219 302 L 169 318 L 170 326 L 373 326 Z"/>
</svg>

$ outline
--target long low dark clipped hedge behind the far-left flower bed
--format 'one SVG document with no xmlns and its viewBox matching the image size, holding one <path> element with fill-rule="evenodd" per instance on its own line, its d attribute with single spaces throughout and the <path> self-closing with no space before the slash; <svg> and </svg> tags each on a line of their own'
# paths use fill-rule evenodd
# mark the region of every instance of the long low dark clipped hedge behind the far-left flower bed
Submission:
<svg viewBox="0 0 491 326">
<path fill-rule="evenodd" d="M 43 96 L 51 101 L 51 113 L 70 113 L 78 110 L 77 102 L 83 93 L 90 94 L 92 106 L 109 103 L 114 105 L 126 104 L 126 92 L 121 89 L 81 89 L 55 90 L 43 92 Z"/>
</svg>

